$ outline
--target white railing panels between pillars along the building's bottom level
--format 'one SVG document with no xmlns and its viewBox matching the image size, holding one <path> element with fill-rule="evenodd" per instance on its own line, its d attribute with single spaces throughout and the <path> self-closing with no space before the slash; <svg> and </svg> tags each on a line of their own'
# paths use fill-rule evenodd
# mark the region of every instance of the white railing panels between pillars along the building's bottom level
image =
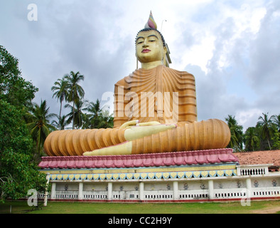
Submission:
<svg viewBox="0 0 280 228">
<path fill-rule="evenodd" d="M 280 197 L 280 187 L 253 187 L 232 189 L 214 189 L 213 199 L 240 199 L 244 197 Z M 41 197 L 40 197 L 41 198 Z M 50 197 L 49 197 L 50 198 Z M 78 191 L 57 191 L 55 199 L 79 199 Z M 82 199 L 108 199 L 107 191 L 83 191 Z M 139 191 L 112 191 L 113 200 L 140 199 Z M 206 190 L 178 190 L 178 199 L 209 199 L 209 191 Z M 173 190 L 144 191 L 144 200 L 174 200 Z"/>
</svg>

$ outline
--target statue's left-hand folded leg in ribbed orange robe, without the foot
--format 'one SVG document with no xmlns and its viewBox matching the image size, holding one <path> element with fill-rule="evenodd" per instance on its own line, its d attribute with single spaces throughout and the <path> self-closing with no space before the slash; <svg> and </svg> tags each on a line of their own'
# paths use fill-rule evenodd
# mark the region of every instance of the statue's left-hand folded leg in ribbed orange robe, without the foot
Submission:
<svg viewBox="0 0 280 228">
<path fill-rule="evenodd" d="M 122 128 L 56 130 L 46 138 L 45 152 L 49 156 L 79 156 L 125 142 L 124 131 Z"/>
</svg>

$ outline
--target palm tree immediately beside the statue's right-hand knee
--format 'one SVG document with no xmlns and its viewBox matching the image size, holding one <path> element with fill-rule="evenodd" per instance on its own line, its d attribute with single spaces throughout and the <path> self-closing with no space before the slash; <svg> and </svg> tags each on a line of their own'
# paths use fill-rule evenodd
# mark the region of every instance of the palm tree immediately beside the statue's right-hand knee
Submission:
<svg viewBox="0 0 280 228">
<path fill-rule="evenodd" d="M 227 147 L 232 148 L 236 151 L 242 150 L 242 143 L 243 143 L 243 132 L 242 132 L 242 125 L 238 125 L 237 120 L 235 120 L 235 116 L 228 115 L 228 118 L 225 118 L 227 121 L 227 125 L 230 128 L 230 143 Z"/>
</svg>

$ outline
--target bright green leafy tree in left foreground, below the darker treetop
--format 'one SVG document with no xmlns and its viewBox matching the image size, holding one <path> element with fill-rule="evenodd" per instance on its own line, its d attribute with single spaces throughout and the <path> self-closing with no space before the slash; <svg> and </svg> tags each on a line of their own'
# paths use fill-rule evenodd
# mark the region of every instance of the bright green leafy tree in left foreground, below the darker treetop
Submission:
<svg viewBox="0 0 280 228">
<path fill-rule="evenodd" d="M 33 142 L 22 110 L 0 100 L 0 200 L 25 197 L 29 189 L 42 191 L 45 175 L 33 162 Z"/>
</svg>

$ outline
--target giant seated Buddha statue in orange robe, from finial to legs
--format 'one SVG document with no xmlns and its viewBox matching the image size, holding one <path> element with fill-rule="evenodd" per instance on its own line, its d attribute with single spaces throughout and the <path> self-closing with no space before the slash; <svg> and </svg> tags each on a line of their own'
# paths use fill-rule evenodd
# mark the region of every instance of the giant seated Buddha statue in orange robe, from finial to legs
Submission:
<svg viewBox="0 0 280 228">
<path fill-rule="evenodd" d="M 136 36 L 141 63 L 115 84 L 114 128 L 57 130 L 45 140 L 49 156 L 131 155 L 225 148 L 222 120 L 198 121 L 195 78 L 166 66 L 166 42 L 150 14 Z"/>
</svg>

